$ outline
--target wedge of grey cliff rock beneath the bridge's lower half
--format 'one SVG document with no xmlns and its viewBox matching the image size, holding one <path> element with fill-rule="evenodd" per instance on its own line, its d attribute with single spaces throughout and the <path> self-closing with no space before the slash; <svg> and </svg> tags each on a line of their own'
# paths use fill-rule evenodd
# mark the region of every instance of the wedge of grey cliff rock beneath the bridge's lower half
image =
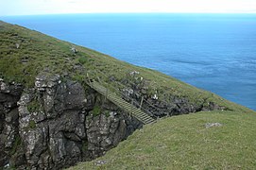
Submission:
<svg viewBox="0 0 256 170">
<path fill-rule="evenodd" d="M 88 151 L 90 158 L 97 158 L 123 141 L 142 125 L 125 114 L 111 111 L 110 115 L 90 115 L 86 120 Z"/>
</svg>

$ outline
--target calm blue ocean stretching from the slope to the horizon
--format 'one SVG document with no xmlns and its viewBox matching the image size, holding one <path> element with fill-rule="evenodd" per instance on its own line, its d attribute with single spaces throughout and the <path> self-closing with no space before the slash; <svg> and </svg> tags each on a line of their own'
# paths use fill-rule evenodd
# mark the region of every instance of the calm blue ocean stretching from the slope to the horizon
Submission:
<svg viewBox="0 0 256 170">
<path fill-rule="evenodd" d="M 158 70 L 256 110 L 256 14 L 0 17 Z"/>
</svg>

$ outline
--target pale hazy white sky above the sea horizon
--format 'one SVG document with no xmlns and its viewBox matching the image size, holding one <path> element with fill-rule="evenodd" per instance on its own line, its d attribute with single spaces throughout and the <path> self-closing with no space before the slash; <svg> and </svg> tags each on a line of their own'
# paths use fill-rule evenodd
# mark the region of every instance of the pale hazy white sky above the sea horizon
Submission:
<svg viewBox="0 0 256 170">
<path fill-rule="evenodd" d="M 0 15 L 94 12 L 256 13 L 256 0 L 0 0 Z"/>
</svg>

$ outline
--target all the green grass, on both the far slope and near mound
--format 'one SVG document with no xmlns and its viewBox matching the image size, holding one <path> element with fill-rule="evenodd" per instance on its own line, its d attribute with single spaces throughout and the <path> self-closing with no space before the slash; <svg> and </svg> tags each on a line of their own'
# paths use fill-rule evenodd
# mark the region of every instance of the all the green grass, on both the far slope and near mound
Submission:
<svg viewBox="0 0 256 170">
<path fill-rule="evenodd" d="M 106 87 L 111 84 L 110 89 L 115 86 L 122 90 L 126 85 L 136 86 L 143 80 L 144 86 L 139 93 L 157 94 L 159 103 L 178 103 L 179 109 L 184 101 L 186 106 L 199 109 L 213 104 L 218 106 L 215 107 L 217 110 L 196 109 L 194 112 L 200 112 L 146 125 L 106 156 L 80 163 L 73 167 L 75 169 L 256 168 L 255 111 L 157 71 L 22 26 L 0 22 L 0 78 L 30 88 L 41 72 L 69 76 L 83 84 L 85 89 L 88 88 L 84 83 L 87 74 L 100 79 Z M 134 78 L 131 73 L 139 73 L 139 76 Z M 206 127 L 208 123 L 220 126 Z"/>
</svg>

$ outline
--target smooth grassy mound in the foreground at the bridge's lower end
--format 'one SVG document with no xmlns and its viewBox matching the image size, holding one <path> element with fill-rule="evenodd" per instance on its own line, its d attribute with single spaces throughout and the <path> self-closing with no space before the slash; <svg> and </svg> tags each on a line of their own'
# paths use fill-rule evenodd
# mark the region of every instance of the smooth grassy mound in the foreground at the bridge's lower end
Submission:
<svg viewBox="0 0 256 170">
<path fill-rule="evenodd" d="M 223 126 L 205 127 L 216 122 Z M 255 112 L 235 111 L 162 119 L 135 131 L 105 156 L 70 169 L 255 169 L 255 122 Z"/>
</svg>

